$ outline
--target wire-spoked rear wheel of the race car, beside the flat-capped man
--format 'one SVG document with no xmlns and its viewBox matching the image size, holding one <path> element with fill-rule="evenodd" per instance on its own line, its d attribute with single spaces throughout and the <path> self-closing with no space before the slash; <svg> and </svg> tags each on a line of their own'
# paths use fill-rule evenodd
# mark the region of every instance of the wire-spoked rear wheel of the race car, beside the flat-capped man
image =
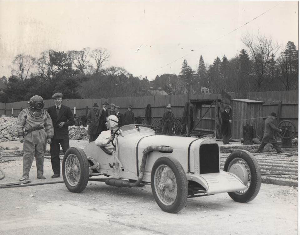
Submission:
<svg viewBox="0 0 300 235">
<path fill-rule="evenodd" d="M 63 181 L 71 192 L 82 192 L 88 184 L 89 163 L 81 148 L 69 148 L 63 157 Z"/>
</svg>

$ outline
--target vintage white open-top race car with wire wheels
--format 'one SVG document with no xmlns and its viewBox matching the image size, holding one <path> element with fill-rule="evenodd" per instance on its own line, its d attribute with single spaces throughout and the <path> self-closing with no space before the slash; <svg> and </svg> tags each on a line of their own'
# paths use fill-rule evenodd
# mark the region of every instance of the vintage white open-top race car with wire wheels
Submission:
<svg viewBox="0 0 300 235">
<path fill-rule="evenodd" d="M 151 183 L 158 206 L 176 213 L 188 197 L 228 192 L 237 202 L 254 199 L 260 189 L 257 160 L 244 150 L 231 153 L 220 170 L 219 146 L 211 138 L 156 135 L 144 126 L 120 128 L 116 149 L 95 142 L 69 148 L 63 158 L 63 180 L 71 192 L 82 192 L 89 180 L 117 187 Z M 95 177 L 95 176 L 106 177 Z"/>
</svg>

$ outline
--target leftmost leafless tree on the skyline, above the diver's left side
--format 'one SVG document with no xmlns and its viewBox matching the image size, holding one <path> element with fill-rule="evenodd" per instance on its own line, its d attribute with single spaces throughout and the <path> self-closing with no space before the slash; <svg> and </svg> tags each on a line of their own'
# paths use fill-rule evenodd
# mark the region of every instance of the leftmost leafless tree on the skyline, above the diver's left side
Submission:
<svg viewBox="0 0 300 235">
<path fill-rule="evenodd" d="M 12 75 L 17 75 L 22 81 L 27 78 L 29 70 L 35 63 L 35 58 L 30 55 L 18 54 L 12 61 Z"/>
</svg>

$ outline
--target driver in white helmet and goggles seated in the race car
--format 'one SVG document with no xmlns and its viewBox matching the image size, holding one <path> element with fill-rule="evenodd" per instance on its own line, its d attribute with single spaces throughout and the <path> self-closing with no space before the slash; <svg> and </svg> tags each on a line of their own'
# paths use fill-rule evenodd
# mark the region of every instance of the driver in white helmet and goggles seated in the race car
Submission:
<svg viewBox="0 0 300 235">
<path fill-rule="evenodd" d="M 95 140 L 95 144 L 99 147 L 105 147 L 107 150 L 113 152 L 116 149 L 115 134 L 118 132 L 119 119 L 115 115 L 110 115 L 106 118 L 106 127 L 108 131 L 102 131 L 98 138 Z"/>
</svg>

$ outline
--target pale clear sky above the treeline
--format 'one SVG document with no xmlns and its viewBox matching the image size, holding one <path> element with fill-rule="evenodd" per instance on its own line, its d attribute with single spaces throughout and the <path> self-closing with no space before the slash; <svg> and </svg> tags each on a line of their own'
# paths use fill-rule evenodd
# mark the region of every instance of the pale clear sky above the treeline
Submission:
<svg viewBox="0 0 300 235">
<path fill-rule="evenodd" d="M 298 1 L 0 1 L 0 77 L 17 54 L 90 47 L 153 80 L 239 54 L 247 34 L 298 47 Z M 248 22 L 248 23 L 247 23 Z M 247 24 L 246 24 L 247 23 Z M 236 29 L 236 30 L 235 30 Z"/>
</svg>

